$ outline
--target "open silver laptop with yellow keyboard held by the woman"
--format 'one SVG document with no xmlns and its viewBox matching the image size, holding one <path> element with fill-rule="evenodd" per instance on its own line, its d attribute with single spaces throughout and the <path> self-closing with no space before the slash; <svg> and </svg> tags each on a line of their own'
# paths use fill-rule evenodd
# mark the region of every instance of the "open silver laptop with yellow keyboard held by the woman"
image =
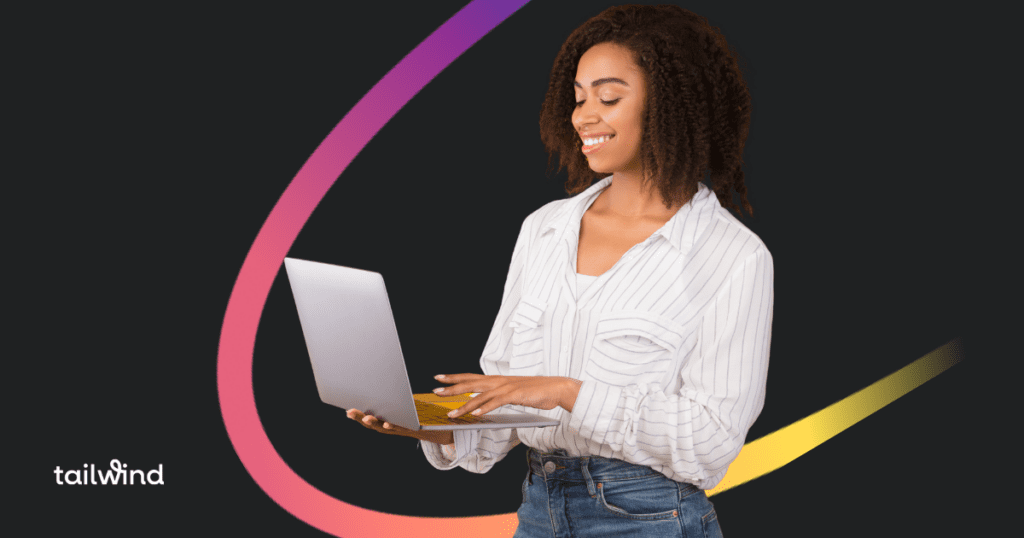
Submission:
<svg viewBox="0 0 1024 538">
<path fill-rule="evenodd" d="M 449 418 L 470 395 L 413 395 L 384 278 L 379 273 L 285 258 L 321 400 L 408 429 L 553 426 L 558 421 L 499 408 Z M 443 365 L 438 365 L 442 368 Z"/>
</svg>

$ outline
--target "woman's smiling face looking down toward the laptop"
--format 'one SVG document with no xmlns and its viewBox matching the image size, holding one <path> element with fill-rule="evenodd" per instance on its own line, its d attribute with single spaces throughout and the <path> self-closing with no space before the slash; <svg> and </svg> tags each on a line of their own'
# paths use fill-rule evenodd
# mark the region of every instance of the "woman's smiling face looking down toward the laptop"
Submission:
<svg viewBox="0 0 1024 538">
<path fill-rule="evenodd" d="M 600 43 L 580 58 L 572 126 L 590 168 L 638 172 L 646 87 L 643 72 L 622 45 Z"/>
</svg>

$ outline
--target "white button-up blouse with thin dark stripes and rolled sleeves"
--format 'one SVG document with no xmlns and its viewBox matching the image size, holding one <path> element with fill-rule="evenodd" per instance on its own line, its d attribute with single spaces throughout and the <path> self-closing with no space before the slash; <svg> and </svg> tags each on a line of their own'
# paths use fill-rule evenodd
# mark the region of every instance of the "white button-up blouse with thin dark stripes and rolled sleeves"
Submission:
<svg viewBox="0 0 1024 538">
<path fill-rule="evenodd" d="M 580 221 L 611 178 L 526 217 L 480 367 L 582 380 L 545 428 L 457 430 L 439 469 L 485 472 L 520 441 L 647 465 L 713 488 L 765 399 L 772 259 L 705 185 L 660 230 L 579 292 Z M 454 457 L 453 457 L 454 456 Z"/>
</svg>

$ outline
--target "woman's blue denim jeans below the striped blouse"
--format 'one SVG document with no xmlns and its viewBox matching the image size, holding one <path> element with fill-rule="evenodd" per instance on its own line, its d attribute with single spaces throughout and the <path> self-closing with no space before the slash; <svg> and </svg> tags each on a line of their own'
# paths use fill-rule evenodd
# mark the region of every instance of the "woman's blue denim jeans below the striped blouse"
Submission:
<svg viewBox="0 0 1024 538">
<path fill-rule="evenodd" d="M 513 538 L 720 538 L 715 508 L 703 490 L 650 467 L 565 451 L 529 449 L 519 527 Z"/>
</svg>

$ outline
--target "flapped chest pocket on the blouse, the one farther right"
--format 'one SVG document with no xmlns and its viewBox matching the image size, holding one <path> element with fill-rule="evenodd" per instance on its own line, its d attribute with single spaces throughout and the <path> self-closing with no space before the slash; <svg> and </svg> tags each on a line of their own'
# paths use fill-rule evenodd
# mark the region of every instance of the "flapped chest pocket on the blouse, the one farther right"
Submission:
<svg viewBox="0 0 1024 538">
<path fill-rule="evenodd" d="M 674 371 L 683 339 L 682 328 L 668 318 L 640 311 L 610 312 L 597 322 L 584 372 L 616 386 L 664 384 Z"/>
</svg>

